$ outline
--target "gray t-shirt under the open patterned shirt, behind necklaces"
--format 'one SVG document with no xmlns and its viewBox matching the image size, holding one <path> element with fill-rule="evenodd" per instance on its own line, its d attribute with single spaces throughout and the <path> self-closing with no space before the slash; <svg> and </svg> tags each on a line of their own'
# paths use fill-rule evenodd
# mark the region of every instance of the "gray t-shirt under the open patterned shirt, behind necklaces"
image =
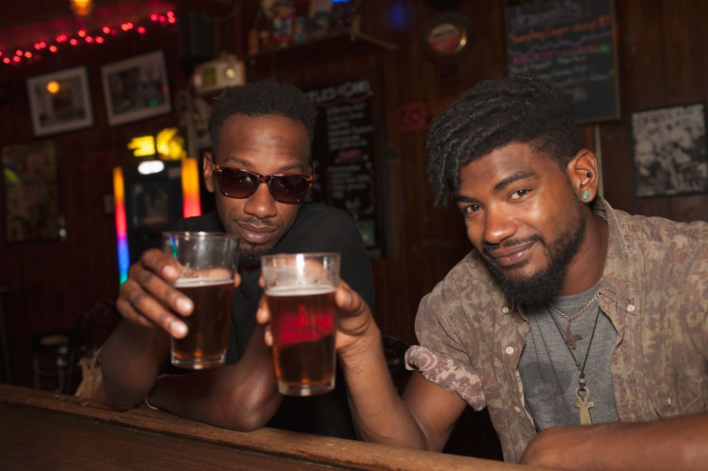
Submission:
<svg viewBox="0 0 708 471">
<path fill-rule="evenodd" d="M 598 292 L 600 283 L 584 293 L 559 296 L 551 303 L 562 313 L 572 316 L 585 306 Z M 600 306 L 597 301 L 585 313 L 571 322 L 573 334 L 583 338 L 576 341 L 573 350 L 578 363 L 583 365 L 588 343 L 593 333 L 595 317 Z M 526 335 L 526 344 L 519 359 L 519 374 L 524 388 L 527 407 L 537 430 L 553 426 L 577 425 L 580 423 L 580 409 L 575 407 L 576 388 L 580 371 L 564 343 L 568 321 L 546 305 L 527 306 L 525 311 L 531 322 Z M 551 316 L 558 321 L 563 335 Z M 610 353 L 617 342 L 617 331 L 610 318 L 600 312 L 598 327 L 590 348 L 585 367 L 586 388 L 590 392 L 590 418 L 593 424 L 619 421 L 615 394 L 612 392 L 610 376 Z"/>
</svg>

